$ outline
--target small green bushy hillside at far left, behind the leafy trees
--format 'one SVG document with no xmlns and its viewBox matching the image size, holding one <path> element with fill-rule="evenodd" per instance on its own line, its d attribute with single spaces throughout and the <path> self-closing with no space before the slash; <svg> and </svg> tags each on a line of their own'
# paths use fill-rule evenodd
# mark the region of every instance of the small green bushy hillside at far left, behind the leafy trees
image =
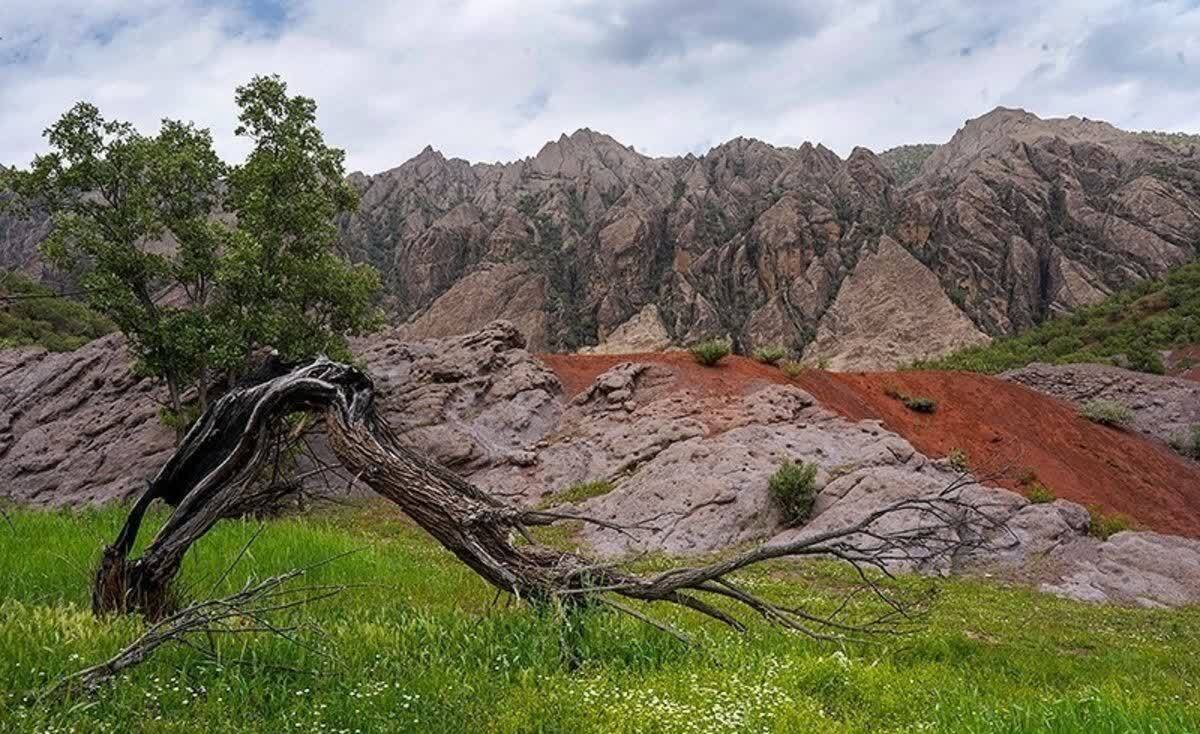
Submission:
<svg viewBox="0 0 1200 734">
<path fill-rule="evenodd" d="M 0 348 L 71 351 L 115 329 L 83 303 L 59 296 L 19 272 L 0 272 Z"/>
</svg>

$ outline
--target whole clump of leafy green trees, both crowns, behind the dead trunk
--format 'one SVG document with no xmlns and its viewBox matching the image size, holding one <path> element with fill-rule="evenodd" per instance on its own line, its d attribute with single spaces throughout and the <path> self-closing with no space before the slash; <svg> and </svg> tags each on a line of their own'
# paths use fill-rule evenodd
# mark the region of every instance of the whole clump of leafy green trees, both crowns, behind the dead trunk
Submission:
<svg viewBox="0 0 1200 734">
<path fill-rule="evenodd" d="M 203 410 L 210 381 L 236 379 L 263 347 L 344 357 L 347 335 L 377 321 L 378 275 L 335 251 L 335 221 L 356 194 L 316 102 L 277 77 L 256 77 L 235 101 L 235 132 L 251 143 L 239 166 L 191 122 L 146 136 L 80 102 L 29 169 L 0 172 L 17 194 L 8 206 L 53 215 L 42 253 L 79 275 L 138 369 L 167 384 L 175 419 L 185 392 L 194 386 Z"/>
</svg>

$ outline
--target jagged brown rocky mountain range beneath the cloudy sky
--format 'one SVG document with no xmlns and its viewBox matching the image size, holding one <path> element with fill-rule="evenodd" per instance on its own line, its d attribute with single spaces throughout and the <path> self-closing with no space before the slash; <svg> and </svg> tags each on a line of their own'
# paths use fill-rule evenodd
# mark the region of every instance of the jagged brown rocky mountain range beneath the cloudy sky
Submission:
<svg viewBox="0 0 1200 734">
<path fill-rule="evenodd" d="M 744 353 L 778 343 L 835 367 L 890 368 L 1192 259 L 1195 154 L 1004 108 L 943 145 L 847 158 L 744 138 L 654 158 L 580 130 L 511 163 L 428 148 L 353 174 L 361 206 L 342 242 L 383 271 L 410 338 L 504 318 L 536 350 L 727 336 Z M 43 230 L 0 222 L 0 265 L 37 270 Z M 865 303 L 872 318 L 851 323 Z"/>
</svg>

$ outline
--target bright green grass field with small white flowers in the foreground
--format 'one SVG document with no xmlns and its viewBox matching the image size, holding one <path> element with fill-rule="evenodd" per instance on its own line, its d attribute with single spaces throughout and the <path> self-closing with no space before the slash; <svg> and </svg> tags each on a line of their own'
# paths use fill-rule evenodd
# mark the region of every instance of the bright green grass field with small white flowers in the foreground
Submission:
<svg viewBox="0 0 1200 734">
<path fill-rule="evenodd" d="M 1200 610 L 1073 603 L 973 580 L 936 582 L 924 631 L 835 645 L 751 625 L 745 636 L 665 613 L 688 648 L 614 613 L 560 656 L 552 613 L 503 603 L 390 509 L 271 521 L 217 592 L 358 550 L 307 583 L 359 588 L 294 613 L 304 646 L 221 640 L 220 663 L 163 649 L 98 696 L 31 690 L 110 656 L 132 619 L 97 621 L 88 580 L 119 510 L 10 512 L 0 523 L 0 732 L 1200 732 Z M 209 595 L 257 523 L 226 523 L 188 558 Z M 745 584 L 832 603 L 828 565 Z M 935 583 L 905 579 L 912 590 Z M 319 632 L 318 632 L 319 628 Z"/>
</svg>

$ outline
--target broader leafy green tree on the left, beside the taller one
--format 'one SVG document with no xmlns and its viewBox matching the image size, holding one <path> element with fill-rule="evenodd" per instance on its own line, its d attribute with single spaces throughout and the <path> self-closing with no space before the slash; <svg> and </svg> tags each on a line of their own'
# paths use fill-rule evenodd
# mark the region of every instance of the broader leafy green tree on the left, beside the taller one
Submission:
<svg viewBox="0 0 1200 734">
<path fill-rule="evenodd" d="M 179 416 L 186 386 L 206 365 L 221 234 L 209 212 L 224 170 L 212 138 L 170 120 L 146 137 L 85 102 L 44 136 L 49 152 L 8 172 L 7 186 L 53 213 L 42 253 L 80 273 L 90 305 L 128 337 L 138 369 L 166 381 Z"/>
</svg>

